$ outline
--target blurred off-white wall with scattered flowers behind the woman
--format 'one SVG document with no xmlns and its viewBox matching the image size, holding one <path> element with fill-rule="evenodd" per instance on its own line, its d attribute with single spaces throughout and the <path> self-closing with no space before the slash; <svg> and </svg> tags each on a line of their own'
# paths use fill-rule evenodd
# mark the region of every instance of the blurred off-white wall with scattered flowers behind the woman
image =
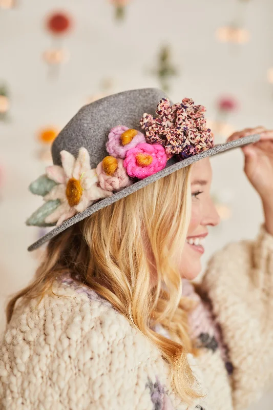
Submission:
<svg viewBox="0 0 273 410">
<path fill-rule="evenodd" d="M 0 0 L 0 330 L 12 292 L 32 278 L 44 230 L 25 220 L 41 205 L 30 182 L 50 165 L 50 144 L 79 108 L 115 92 L 161 87 L 174 102 L 207 107 L 216 142 L 273 127 L 272 0 Z M 212 158 L 222 223 L 207 259 L 254 238 L 261 203 L 235 150 Z M 253 409 L 271 409 L 270 392 Z"/>
</svg>

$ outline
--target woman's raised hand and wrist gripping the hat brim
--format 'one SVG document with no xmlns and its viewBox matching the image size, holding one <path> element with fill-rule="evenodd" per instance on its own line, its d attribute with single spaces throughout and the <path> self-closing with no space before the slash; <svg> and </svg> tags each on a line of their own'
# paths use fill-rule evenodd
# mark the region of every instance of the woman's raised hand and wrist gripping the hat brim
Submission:
<svg viewBox="0 0 273 410">
<path fill-rule="evenodd" d="M 262 201 L 270 202 L 273 208 L 273 130 L 266 130 L 264 127 L 245 128 L 230 135 L 227 140 L 253 134 L 260 134 L 261 139 L 242 147 L 245 157 L 244 171 Z"/>
</svg>

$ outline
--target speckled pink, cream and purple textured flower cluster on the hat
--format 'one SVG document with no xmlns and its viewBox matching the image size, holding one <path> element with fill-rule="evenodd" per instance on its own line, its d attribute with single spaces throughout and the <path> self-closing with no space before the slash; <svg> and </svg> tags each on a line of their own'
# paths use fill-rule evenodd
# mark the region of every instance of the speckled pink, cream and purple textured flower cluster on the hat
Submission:
<svg viewBox="0 0 273 410">
<path fill-rule="evenodd" d="M 140 125 L 149 144 L 160 144 L 167 154 L 181 154 L 186 158 L 214 145 L 213 134 L 206 127 L 205 111 L 205 107 L 195 106 L 191 98 L 184 98 L 181 104 L 173 106 L 168 98 L 162 98 L 156 110 L 158 117 L 145 113 Z"/>
</svg>

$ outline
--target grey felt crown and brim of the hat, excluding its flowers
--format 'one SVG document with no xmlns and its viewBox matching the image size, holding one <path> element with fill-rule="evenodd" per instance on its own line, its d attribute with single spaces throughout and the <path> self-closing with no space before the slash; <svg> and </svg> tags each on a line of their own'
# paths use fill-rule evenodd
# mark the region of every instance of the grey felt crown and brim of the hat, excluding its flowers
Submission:
<svg viewBox="0 0 273 410">
<path fill-rule="evenodd" d="M 122 124 L 125 127 L 128 127 L 129 130 L 136 130 L 136 132 L 143 137 L 143 134 L 140 133 L 143 132 L 142 128 L 144 127 L 141 128 L 140 126 L 140 118 L 143 117 L 144 113 L 154 114 L 159 100 L 162 98 L 167 98 L 163 91 L 148 88 L 125 91 L 119 94 L 110 95 L 82 107 L 68 122 L 64 129 L 62 129 L 53 142 L 52 157 L 54 165 L 59 166 L 58 169 L 62 166 L 60 155 L 61 151 L 65 150 L 77 158 L 79 150 L 83 147 L 88 151 L 88 158 L 90 157 L 90 168 L 92 170 L 96 169 L 103 158 L 109 156 L 109 150 L 107 151 L 106 143 L 108 141 L 110 130 L 113 129 L 113 127 L 118 127 Z M 146 132 L 146 135 L 150 134 Z M 173 155 L 170 159 L 166 160 L 163 169 L 153 173 L 152 175 L 148 175 L 143 179 L 129 178 L 131 179 L 130 184 L 128 183 L 127 186 L 122 189 L 112 190 L 111 196 L 104 195 L 102 198 L 96 198 L 96 200 L 92 201 L 91 206 L 88 206 L 82 212 L 77 212 L 74 216 L 64 220 L 59 224 L 59 226 L 39 238 L 28 248 L 28 250 L 33 251 L 39 248 L 40 245 L 58 235 L 60 232 L 65 231 L 74 223 L 88 217 L 99 209 L 107 207 L 109 204 L 116 202 L 120 198 L 132 194 L 133 192 L 145 187 L 149 183 L 152 183 L 159 178 L 169 175 L 172 172 L 199 161 L 202 158 L 236 147 L 242 147 L 258 141 L 259 138 L 259 135 L 250 135 L 234 141 L 226 142 L 225 144 L 216 145 L 213 148 L 206 149 L 185 159 L 181 157 L 178 159 L 178 155 Z M 151 142 L 151 140 L 149 142 Z M 46 195 L 50 193 L 56 185 L 56 179 L 53 181 L 48 178 L 48 176 L 44 175 L 31 184 L 30 190 L 32 193 L 44 196 L 46 198 Z M 61 202 L 57 198 L 53 198 L 53 200 L 46 203 L 46 207 L 44 204 L 43 207 L 39 208 L 39 210 L 37 210 L 26 223 L 28 225 L 44 227 L 56 225 L 56 222 L 46 223 L 45 220 L 50 213 L 56 210 L 60 203 Z"/>
</svg>

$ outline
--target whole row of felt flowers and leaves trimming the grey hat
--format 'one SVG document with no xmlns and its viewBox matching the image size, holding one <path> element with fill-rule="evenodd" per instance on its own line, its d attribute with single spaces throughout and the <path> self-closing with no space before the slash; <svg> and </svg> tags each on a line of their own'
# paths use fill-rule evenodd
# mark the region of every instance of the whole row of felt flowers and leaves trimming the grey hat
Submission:
<svg viewBox="0 0 273 410">
<path fill-rule="evenodd" d="M 89 152 L 81 147 L 78 157 L 60 152 L 61 165 L 46 168 L 29 189 L 44 197 L 45 203 L 27 220 L 28 225 L 59 226 L 85 211 L 94 202 L 109 197 L 166 167 L 173 156 L 185 159 L 214 146 L 213 134 L 206 128 L 205 107 L 190 98 L 170 105 L 162 98 L 157 117 L 143 114 L 144 134 L 119 125 L 111 129 L 106 144 L 108 156 L 91 169 Z"/>
</svg>

